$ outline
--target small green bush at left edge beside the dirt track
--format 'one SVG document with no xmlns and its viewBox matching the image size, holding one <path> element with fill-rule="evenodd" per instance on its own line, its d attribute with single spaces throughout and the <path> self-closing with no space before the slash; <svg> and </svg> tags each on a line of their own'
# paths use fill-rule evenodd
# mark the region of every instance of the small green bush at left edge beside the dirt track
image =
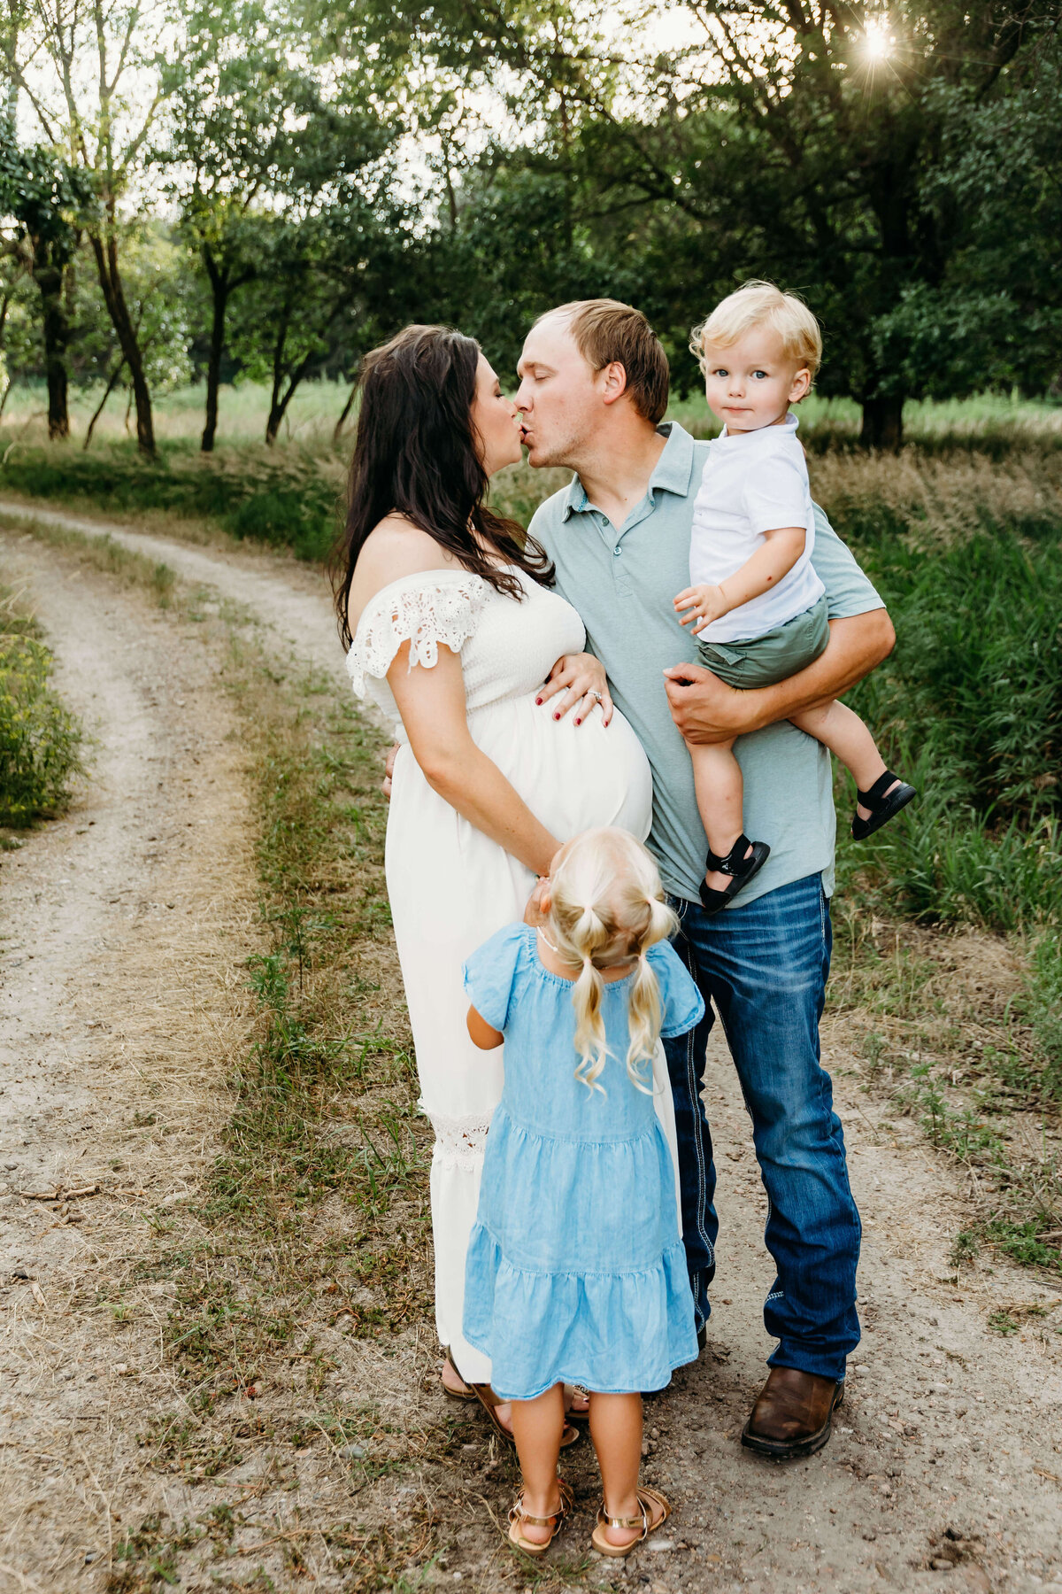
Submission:
<svg viewBox="0 0 1062 1594">
<path fill-rule="evenodd" d="M 49 687 L 53 658 L 33 620 L 0 590 L 0 824 L 62 811 L 81 768 L 81 730 Z"/>
</svg>

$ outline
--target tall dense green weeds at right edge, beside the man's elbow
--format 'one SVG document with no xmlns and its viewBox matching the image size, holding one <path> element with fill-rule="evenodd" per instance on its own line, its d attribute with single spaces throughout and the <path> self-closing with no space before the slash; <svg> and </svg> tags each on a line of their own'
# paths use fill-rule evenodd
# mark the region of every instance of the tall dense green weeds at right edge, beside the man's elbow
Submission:
<svg viewBox="0 0 1062 1594">
<path fill-rule="evenodd" d="M 836 526 L 900 638 L 849 701 L 920 789 L 874 843 L 844 840 L 842 869 L 919 918 L 1062 923 L 1062 547 L 995 524 L 925 548 L 885 510 Z"/>
</svg>

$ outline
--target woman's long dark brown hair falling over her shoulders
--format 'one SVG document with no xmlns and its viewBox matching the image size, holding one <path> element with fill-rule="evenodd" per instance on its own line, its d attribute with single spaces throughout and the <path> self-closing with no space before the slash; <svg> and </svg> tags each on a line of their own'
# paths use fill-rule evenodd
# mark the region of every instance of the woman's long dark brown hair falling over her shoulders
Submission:
<svg viewBox="0 0 1062 1594">
<path fill-rule="evenodd" d="M 350 464 L 347 524 L 331 561 L 342 646 L 350 647 L 350 582 L 365 539 L 398 512 L 495 591 L 521 596 L 490 559 L 549 585 L 552 564 L 516 521 L 487 508 L 487 473 L 471 418 L 479 344 L 449 327 L 406 327 L 361 367 L 361 411 Z"/>
</svg>

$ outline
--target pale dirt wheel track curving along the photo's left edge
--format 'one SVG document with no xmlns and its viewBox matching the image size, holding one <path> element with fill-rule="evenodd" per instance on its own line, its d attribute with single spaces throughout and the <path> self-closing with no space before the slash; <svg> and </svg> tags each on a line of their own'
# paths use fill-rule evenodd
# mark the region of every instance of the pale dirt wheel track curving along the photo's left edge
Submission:
<svg viewBox="0 0 1062 1594">
<path fill-rule="evenodd" d="M 158 1331 L 123 1333 L 107 1285 L 210 1152 L 247 1028 L 255 877 L 210 654 L 76 558 L 10 537 L 2 552 L 92 738 L 72 811 L 0 872 L 0 1588 L 65 1594 L 99 1586 L 150 1502 L 124 1369 L 158 1395 L 169 1374 Z M 99 1194 L 65 1211 L 18 1196 L 57 1186 Z M 166 1301 L 142 1293 L 158 1325 Z"/>
</svg>

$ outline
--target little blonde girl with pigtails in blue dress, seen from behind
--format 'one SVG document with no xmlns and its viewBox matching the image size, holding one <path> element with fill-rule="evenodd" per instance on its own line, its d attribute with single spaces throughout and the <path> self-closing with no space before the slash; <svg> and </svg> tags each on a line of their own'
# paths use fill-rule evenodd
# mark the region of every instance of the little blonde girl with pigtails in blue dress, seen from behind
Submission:
<svg viewBox="0 0 1062 1594">
<path fill-rule="evenodd" d="M 576 835 L 532 902 L 541 929 L 508 925 L 465 964 L 468 1033 L 484 1050 L 505 1041 L 465 1336 L 513 1401 L 510 1540 L 543 1554 L 572 1508 L 557 1457 L 564 1385 L 581 1384 L 605 1495 L 592 1543 L 627 1556 L 670 1513 L 638 1487 L 640 1392 L 697 1356 L 651 1057 L 704 1003 L 667 942 L 656 864 L 626 830 Z"/>
</svg>

